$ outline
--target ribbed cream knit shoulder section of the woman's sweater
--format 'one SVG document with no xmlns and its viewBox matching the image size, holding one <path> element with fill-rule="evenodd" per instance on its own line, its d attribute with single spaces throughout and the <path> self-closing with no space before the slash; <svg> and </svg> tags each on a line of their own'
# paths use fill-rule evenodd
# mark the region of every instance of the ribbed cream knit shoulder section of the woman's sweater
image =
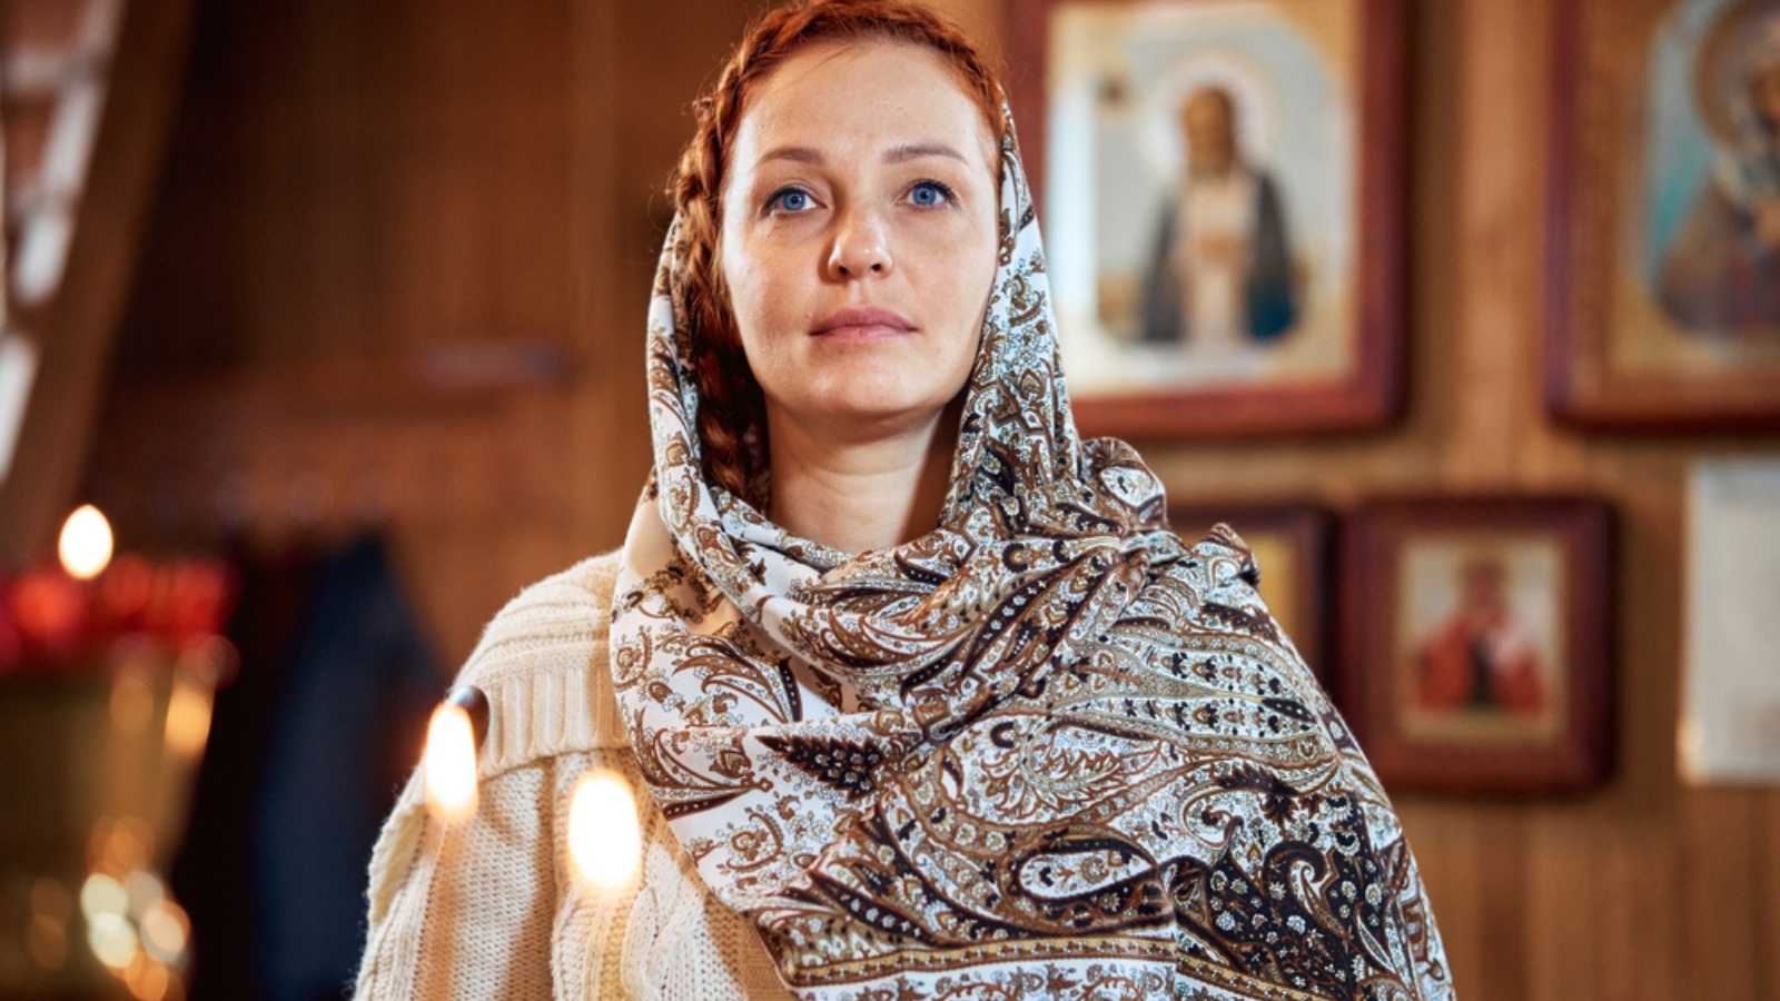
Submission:
<svg viewBox="0 0 1780 1001">
<path fill-rule="evenodd" d="M 557 753 L 627 746 L 607 671 L 618 552 L 527 584 L 482 629 L 456 686 L 488 700 L 477 773 L 491 778 Z"/>
</svg>

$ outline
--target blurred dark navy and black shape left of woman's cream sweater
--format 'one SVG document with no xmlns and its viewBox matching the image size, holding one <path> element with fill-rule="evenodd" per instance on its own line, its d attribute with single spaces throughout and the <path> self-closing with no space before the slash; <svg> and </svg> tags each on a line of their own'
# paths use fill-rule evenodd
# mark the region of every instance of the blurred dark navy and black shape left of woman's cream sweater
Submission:
<svg viewBox="0 0 1780 1001">
<path fill-rule="evenodd" d="M 173 867 L 192 997 L 342 997 L 365 871 L 413 769 L 441 670 L 384 541 L 237 557 L 230 636 L 192 819 Z"/>
</svg>

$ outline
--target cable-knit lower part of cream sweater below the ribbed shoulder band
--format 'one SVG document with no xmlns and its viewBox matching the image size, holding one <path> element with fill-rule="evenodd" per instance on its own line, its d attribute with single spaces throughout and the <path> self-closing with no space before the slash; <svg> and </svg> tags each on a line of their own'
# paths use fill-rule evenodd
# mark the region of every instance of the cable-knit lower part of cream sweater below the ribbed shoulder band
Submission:
<svg viewBox="0 0 1780 1001">
<path fill-rule="evenodd" d="M 643 789 L 625 750 L 562 753 L 490 778 L 473 818 L 441 825 L 411 780 L 372 855 L 356 997 L 789 999 L 748 919 L 710 896 L 646 794 L 637 880 L 575 885 L 564 826 L 591 769 Z"/>
</svg>

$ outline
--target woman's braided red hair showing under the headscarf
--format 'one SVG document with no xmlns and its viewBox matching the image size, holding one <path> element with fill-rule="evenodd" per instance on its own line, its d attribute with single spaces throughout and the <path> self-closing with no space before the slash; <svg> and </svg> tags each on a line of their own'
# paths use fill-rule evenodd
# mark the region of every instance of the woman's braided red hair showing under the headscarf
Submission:
<svg viewBox="0 0 1780 1001">
<path fill-rule="evenodd" d="M 933 11 L 904 0 L 797 0 L 755 20 L 723 64 L 717 82 L 692 102 L 698 123 L 668 187 L 680 217 L 682 260 L 675 312 L 691 330 L 698 378 L 698 436 L 705 476 L 764 506 L 765 399 L 748 367 L 723 281 L 719 237 L 723 178 L 751 87 L 799 48 L 837 39 L 888 39 L 938 52 L 983 109 L 995 146 L 1002 141 L 1002 87 L 965 34 Z"/>
</svg>

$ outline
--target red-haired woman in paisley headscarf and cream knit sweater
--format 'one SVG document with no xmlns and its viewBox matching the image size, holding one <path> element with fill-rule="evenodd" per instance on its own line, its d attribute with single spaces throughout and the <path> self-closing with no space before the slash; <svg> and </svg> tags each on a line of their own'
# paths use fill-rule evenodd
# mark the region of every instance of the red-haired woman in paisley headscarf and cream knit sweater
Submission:
<svg viewBox="0 0 1780 1001">
<path fill-rule="evenodd" d="M 1137 454 L 1077 438 L 975 50 L 801 4 L 696 107 L 651 481 L 472 654 L 482 805 L 404 793 L 360 996 L 1451 996 L 1246 547 L 1182 545 Z M 568 871 L 593 766 L 639 791 L 619 894 Z"/>
</svg>

